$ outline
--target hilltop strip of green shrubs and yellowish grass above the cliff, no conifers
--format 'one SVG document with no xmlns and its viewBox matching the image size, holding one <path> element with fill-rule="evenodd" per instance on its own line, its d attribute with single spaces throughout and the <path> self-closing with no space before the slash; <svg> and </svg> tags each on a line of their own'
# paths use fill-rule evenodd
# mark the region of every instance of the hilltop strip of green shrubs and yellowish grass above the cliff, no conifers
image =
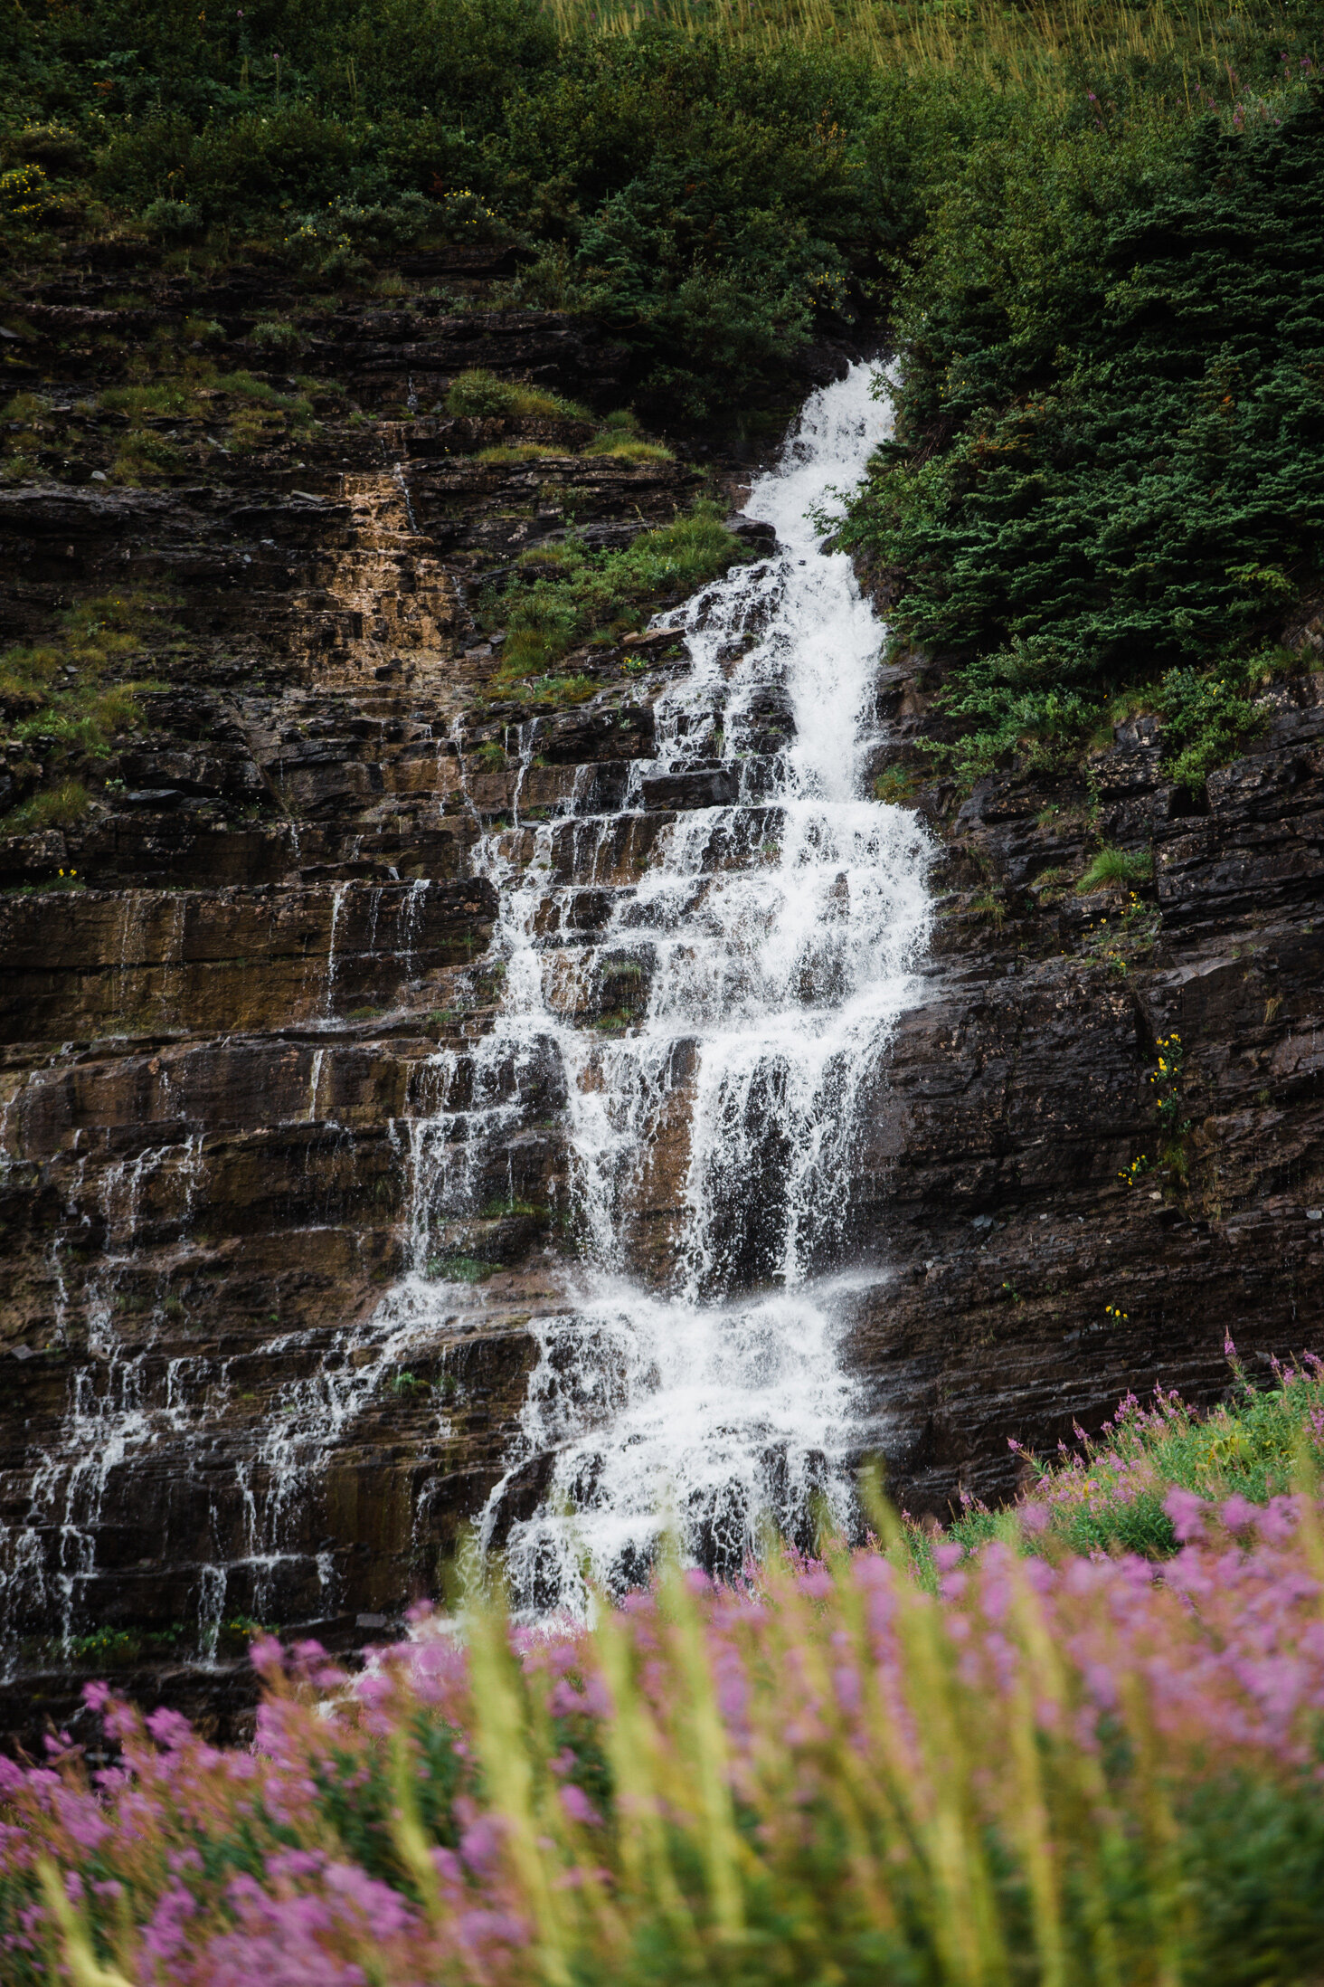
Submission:
<svg viewBox="0 0 1324 1987">
<path fill-rule="evenodd" d="M 510 302 L 594 310 L 641 403 L 695 419 L 875 312 L 1006 131 L 1074 129 L 1090 77 L 1161 105 L 1161 149 L 1191 89 L 1227 95 L 1229 60 L 1268 83 L 1298 40 L 1268 0 L 667 0 L 597 26 L 574 0 L 12 8 L 0 248 L 99 227 L 187 270 L 258 240 L 333 288 L 409 246 L 506 242 Z M 921 268 L 951 246 L 931 240 Z"/>
</svg>

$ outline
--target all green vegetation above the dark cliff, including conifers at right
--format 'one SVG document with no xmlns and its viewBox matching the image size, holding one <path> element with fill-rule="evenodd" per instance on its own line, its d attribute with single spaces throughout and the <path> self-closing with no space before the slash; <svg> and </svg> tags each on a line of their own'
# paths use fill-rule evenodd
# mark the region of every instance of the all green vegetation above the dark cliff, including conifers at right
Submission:
<svg viewBox="0 0 1324 1987">
<path fill-rule="evenodd" d="M 955 666 L 937 755 L 1052 763 L 1149 707 L 1199 785 L 1324 586 L 1316 60 L 1318 0 L 12 8 L 0 256 L 109 230 L 316 298 L 488 242 L 488 300 L 592 312 L 653 425 L 748 417 L 889 316 L 897 443 L 846 540 Z M 254 340 L 294 362 L 298 322 Z M 590 632 L 524 606 L 544 662 Z"/>
</svg>

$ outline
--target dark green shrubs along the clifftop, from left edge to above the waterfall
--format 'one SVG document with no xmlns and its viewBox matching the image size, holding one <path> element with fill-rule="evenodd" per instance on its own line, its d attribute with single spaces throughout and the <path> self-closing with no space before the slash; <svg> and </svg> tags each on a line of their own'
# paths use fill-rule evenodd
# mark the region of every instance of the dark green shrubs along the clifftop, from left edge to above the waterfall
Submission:
<svg viewBox="0 0 1324 1987">
<path fill-rule="evenodd" d="M 661 24 L 560 42 L 532 0 L 149 0 L 14 8 L 0 68 L 18 232 L 81 187 L 173 250 L 258 234 L 330 282 L 510 242 L 510 298 L 594 308 L 673 415 L 730 405 L 850 312 L 897 232 L 861 153 L 879 79 L 794 48 Z"/>
</svg>

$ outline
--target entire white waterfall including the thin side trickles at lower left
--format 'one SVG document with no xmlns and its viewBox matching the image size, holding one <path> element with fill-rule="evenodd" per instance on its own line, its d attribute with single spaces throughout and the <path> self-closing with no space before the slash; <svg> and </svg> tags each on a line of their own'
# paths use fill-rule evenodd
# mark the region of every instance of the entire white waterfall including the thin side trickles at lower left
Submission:
<svg viewBox="0 0 1324 1987">
<path fill-rule="evenodd" d="M 883 628 L 814 523 L 889 429 L 873 382 L 856 366 L 810 397 L 746 503 L 776 533 L 768 554 L 663 618 L 689 660 L 653 707 L 651 759 L 611 761 L 605 783 L 584 765 L 552 819 L 520 817 L 548 719 L 510 729 L 514 819 L 476 817 L 474 850 L 500 898 L 480 962 L 500 1011 L 421 1065 L 421 1115 L 389 1127 L 411 1198 L 407 1274 L 371 1317 L 264 1345 L 290 1377 L 232 1468 L 208 1413 L 252 1399 L 244 1353 L 163 1359 L 151 1333 L 123 1337 L 117 1278 L 161 1154 L 111 1168 L 91 1357 L 38 1456 L 30 1516 L 0 1536 L 0 1673 L 22 1621 L 66 1645 L 85 1625 L 109 1488 L 163 1445 L 214 1476 L 199 1532 L 214 1560 L 199 1560 L 185 1602 L 204 1657 L 236 1605 L 266 1619 L 298 1594 L 300 1609 L 335 1615 L 335 1540 L 312 1566 L 302 1542 L 318 1478 L 411 1361 L 472 1341 L 488 1317 L 510 1327 L 508 1294 L 455 1280 L 453 1238 L 482 1232 L 494 1180 L 518 1200 L 520 1141 L 546 1150 L 556 1127 L 578 1258 L 548 1250 L 536 1266 L 556 1298 L 524 1325 L 538 1359 L 506 1474 L 468 1514 L 504 1552 L 516 1607 L 582 1611 L 586 1574 L 621 1592 L 647 1576 L 663 1526 L 734 1574 L 768 1524 L 808 1542 L 824 1504 L 850 1520 L 867 1431 L 836 1303 L 879 1276 L 852 1228 L 858 1113 L 917 997 L 929 916 L 923 833 L 865 797 Z M 318 1049 L 310 1119 L 322 1063 Z M 189 1141 L 189 1182 L 200 1146 Z M 193 1184 L 185 1228 L 191 1206 Z M 445 1472 L 441 1397 L 433 1411 Z M 431 1494 L 419 1482 L 421 1554 Z"/>
</svg>

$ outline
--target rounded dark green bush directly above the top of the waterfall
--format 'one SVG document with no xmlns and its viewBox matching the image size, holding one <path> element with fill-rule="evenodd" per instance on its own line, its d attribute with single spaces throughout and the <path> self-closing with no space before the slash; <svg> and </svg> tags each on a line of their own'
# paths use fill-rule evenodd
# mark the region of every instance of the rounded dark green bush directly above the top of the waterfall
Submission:
<svg viewBox="0 0 1324 1987">
<path fill-rule="evenodd" d="M 643 405 L 732 407 L 850 308 L 873 230 L 836 68 L 663 28 L 584 44 L 508 107 L 510 189 L 564 232 L 582 308 L 633 350 Z"/>
</svg>

